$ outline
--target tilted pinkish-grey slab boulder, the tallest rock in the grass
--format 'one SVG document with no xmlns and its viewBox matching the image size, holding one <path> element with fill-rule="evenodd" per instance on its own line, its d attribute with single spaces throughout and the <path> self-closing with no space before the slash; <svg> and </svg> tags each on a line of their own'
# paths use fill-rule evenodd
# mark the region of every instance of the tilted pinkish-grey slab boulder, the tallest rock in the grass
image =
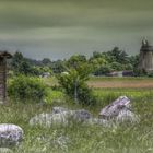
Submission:
<svg viewBox="0 0 153 153">
<path fill-rule="evenodd" d="M 130 108 L 130 99 L 127 96 L 120 96 L 115 102 L 104 107 L 99 113 L 99 117 L 103 119 L 115 119 L 118 122 L 136 122 L 139 120 L 139 117 L 133 114 Z"/>
</svg>

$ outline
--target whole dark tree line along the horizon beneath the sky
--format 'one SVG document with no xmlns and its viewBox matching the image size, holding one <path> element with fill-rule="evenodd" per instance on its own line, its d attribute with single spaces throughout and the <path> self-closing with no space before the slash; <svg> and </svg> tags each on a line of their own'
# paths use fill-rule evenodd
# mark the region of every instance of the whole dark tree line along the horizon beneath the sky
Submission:
<svg viewBox="0 0 153 153">
<path fill-rule="evenodd" d="M 92 74 L 106 75 L 111 71 L 136 71 L 138 62 L 138 55 L 129 56 L 125 50 L 115 47 L 110 51 L 94 51 L 89 59 L 84 55 L 74 55 L 67 60 L 56 61 L 51 61 L 49 58 L 30 59 L 16 51 L 10 67 L 14 74 L 40 75 L 43 72 L 61 73 L 67 71 L 67 67 L 76 68 L 78 63 L 86 63 Z"/>
</svg>

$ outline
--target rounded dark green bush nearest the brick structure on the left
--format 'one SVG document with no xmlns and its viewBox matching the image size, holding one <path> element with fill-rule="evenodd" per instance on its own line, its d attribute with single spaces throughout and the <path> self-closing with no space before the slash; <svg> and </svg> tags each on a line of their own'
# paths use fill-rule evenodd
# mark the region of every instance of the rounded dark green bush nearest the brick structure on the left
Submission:
<svg viewBox="0 0 153 153">
<path fill-rule="evenodd" d="M 8 95 L 13 101 L 38 103 L 45 97 L 46 89 L 43 81 L 38 78 L 19 75 L 10 81 Z"/>
</svg>

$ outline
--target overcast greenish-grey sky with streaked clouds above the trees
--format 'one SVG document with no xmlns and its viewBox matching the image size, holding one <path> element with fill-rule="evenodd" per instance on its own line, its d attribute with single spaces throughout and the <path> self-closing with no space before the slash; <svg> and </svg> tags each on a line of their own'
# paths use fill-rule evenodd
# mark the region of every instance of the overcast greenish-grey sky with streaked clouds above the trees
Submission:
<svg viewBox="0 0 153 153">
<path fill-rule="evenodd" d="M 0 49 L 51 60 L 153 45 L 153 0 L 0 0 Z"/>
</svg>

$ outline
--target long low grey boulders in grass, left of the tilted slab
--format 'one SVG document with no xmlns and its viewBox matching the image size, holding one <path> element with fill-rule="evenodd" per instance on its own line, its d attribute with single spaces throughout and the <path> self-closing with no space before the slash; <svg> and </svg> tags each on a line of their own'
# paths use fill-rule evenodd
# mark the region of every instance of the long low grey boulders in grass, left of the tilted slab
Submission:
<svg viewBox="0 0 153 153">
<path fill-rule="evenodd" d="M 54 107 L 50 114 L 36 115 L 30 120 L 31 126 L 68 126 L 70 121 L 82 122 L 91 118 L 91 114 L 85 109 L 69 110 L 63 107 Z"/>
</svg>

